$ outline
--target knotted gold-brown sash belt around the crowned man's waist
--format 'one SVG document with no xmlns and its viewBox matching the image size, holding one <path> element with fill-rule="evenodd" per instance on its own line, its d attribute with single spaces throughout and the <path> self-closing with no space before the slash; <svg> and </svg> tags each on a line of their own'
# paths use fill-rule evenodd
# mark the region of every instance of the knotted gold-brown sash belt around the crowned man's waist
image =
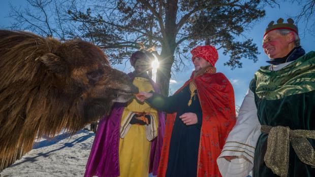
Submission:
<svg viewBox="0 0 315 177">
<path fill-rule="evenodd" d="M 306 139 L 315 139 L 315 130 L 291 130 L 289 127 L 262 125 L 261 132 L 269 134 L 264 161 L 275 174 L 288 175 L 290 141 L 298 158 L 315 167 L 315 151 Z"/>
</svg>

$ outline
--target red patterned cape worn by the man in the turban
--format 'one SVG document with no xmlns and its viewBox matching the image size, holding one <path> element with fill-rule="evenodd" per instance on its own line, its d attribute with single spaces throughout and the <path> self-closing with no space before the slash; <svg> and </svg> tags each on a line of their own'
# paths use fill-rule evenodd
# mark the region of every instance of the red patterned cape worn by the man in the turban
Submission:
<svg viewBox="0 0 315 177">
<path fill-rule="evenodd" d="M 207 69 L 209 70 L 209 69 Z M 229 132 L 235 125 L 234 91 L 229 80 L 222 73 L 205 72 L 188 80 L 179 90 L 194 81 L 202 109 L 197 176 L 221 176 L 216 164 Z M 169 146 L 176 113 L 166 118 L 165 136 L 157 176 L 165 176 Z"/>
</svg>

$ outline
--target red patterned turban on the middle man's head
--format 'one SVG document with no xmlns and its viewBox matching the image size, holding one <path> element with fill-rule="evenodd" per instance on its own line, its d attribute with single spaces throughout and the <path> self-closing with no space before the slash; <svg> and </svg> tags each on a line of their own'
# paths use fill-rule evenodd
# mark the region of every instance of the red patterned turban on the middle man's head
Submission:
<svg viewBox="0 0 315 177">
<path fill-rule="evenodd" d="M 213 67 L 218 59 L 217 51 L 213 46 L 197 46 L 191 53 L 193 54 L 193 61 L 195 57 L 201 57 L 211 63 Z"/>
</svg>

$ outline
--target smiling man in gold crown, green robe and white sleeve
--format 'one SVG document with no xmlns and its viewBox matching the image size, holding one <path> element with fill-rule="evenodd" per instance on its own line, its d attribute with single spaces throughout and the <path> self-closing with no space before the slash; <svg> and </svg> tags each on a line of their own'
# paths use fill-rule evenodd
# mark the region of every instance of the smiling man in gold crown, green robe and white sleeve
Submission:
<svg viewBox="0 0 315 177">
<path fill-rule="evenodd" d="M 315 176 L 315 52 L 305 54 L 289 18 L 270 22 L 270 58 L 251 80 L 236 125 L 217 159 L 223 176 Z M 254 168 L 253 168 L 254 166 Z"/>
</svg>

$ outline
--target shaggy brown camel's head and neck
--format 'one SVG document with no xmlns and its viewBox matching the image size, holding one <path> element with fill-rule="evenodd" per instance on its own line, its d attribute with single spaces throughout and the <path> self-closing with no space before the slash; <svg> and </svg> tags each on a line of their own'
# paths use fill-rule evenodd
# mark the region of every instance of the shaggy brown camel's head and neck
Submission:
<svg viewBox="0 0 315 177">
<path fill-rule="evenodd" d="M 138 91 L 99 47 L 81 40 L 0 30 L 0 68 L 3 166 L 30 151 L 37 136 L 74 133 Z"/>
</svg>

